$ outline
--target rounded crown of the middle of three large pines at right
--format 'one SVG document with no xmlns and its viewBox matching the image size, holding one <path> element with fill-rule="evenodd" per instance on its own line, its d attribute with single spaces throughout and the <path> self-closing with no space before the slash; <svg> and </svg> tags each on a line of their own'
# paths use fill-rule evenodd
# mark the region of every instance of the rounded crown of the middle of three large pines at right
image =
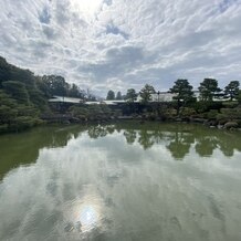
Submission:
<svg viewBox="0 0 241 241">
<path fill-rule="evenodd" d="M 221 90 L 218 87 L 218 81 L 214 78 L 205 78 L 199 86 L 201 101 L 212 102 L 214 95 Z"/>
</svg>

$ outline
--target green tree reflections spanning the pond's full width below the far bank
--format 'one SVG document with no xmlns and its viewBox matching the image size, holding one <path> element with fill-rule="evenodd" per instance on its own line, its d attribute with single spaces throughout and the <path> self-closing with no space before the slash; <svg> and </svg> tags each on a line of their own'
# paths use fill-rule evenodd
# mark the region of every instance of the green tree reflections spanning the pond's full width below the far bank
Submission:
<svg viewBox="0 0 241 241">
<path fill-rule="evenodd" d="M 144 149 L 164 146 L 177 160 L 184 159 L 190 150 L 200 157 L 210 157 L 216 149 L 220 149 L 226 157 L 232 157 L 235 150 L 241 151 L 240 133 L 210 129 L 201 125 L 122 122 L 112 125 L 46 126 L 1 136 L 0 179 L 13 167 L 34 163 L 40 149 L 64 147 L 72 138 L 84 133 L 94 139 L 123 135 L 127 144 L 136 143 Z"/>
</svg>

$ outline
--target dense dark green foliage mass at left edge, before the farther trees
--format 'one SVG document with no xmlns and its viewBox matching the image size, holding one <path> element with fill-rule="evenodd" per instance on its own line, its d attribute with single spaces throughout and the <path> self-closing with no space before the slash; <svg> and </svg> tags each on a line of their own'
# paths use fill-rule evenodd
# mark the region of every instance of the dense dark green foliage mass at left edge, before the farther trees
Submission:
<svg viewBox="0 0 241 241">
<path fill-rule="evenodd" d="M 38 83 L 32 72 L 0 57 L 0 132 L 19 132 L 41 123 L 40 111 L 48 109 L 48 99 Z"/>
</svg>

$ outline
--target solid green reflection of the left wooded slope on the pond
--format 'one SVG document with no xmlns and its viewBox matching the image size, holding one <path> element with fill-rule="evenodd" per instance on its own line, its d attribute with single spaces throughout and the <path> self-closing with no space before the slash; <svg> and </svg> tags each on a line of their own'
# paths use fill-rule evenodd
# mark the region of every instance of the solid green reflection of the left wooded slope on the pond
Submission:
<svg viewBox="0 0 241 241">
<path fill-rule="evenodd" d="M 38 159 L 39 150 L 48 147 L 64 147 L 76 138 L 85 127 L 46 126 L 21 134 L 0 136 L 0 180 L 6 172 L 19 165 L 29 165 Z"/>
</svg>

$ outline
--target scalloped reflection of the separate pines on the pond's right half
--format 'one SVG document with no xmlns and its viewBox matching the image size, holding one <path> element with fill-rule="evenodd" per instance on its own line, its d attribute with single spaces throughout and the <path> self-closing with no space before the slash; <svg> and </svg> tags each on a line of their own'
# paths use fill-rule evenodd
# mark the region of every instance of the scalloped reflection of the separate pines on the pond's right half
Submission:
<svg viewBox="0 0 241 241">
<path fill-rule="evenodd" d="M 88 127 L 87 133 L 91 138 L 98 138 L 112 135 L 115 130 L 125 136 L 127 144 L 137 142 L 144 149 L 149 149 L 154 145 L 164 145 L 177 160 L 184 159 L 191 148 L 201 157 L 212 156 L 217 148 L 227 157 L 231 157 L 234 149 L 241 150 L 239 133 L 209 129 L 191 124 L 118 123 L 92 126 Z"/>
</svg>

